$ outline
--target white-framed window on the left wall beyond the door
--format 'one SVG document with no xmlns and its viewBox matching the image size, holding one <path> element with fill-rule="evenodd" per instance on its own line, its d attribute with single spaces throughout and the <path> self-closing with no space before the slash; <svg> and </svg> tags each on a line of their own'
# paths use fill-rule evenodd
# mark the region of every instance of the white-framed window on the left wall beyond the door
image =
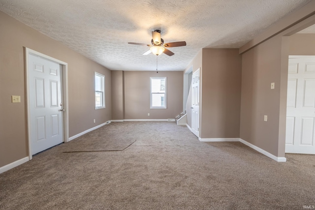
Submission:
<svg viewBox="0 0 315 210">
<path fill-rule="evenodd" d="M 105 76 L 95 72 L 95 109 L 105 108 Z"/>
</svg>

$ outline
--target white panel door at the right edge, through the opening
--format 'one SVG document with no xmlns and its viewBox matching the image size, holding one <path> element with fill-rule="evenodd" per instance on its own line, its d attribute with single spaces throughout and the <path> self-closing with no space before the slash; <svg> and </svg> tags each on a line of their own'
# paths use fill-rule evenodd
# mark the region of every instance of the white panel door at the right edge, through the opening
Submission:
<svg viewBox="0 0 315 210">
<path fill-rule="evenodd" d="M 285 152 L 315 154 L 315 58 L 289 58 Z"/>
</svg>

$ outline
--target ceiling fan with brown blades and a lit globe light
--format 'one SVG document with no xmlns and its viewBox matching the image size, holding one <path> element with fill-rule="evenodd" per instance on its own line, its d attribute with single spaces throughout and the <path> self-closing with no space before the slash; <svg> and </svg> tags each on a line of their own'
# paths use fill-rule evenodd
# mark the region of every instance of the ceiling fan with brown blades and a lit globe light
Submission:
<svg viewBox="0 0 315 210">
<path fill-rule="evenodd" d="M 172 56 L 172 55 L 174 55 L 174 53 L 172 51 L 166 49 L 166 47 L 186 46 L 186 41 L 170 42 L 170 43 L 164 44 L 164 40 L 161 38 L 161 31 L 155 30 L 155 31 L 152 31 L 151 44 L 141 44 L 141 43 L 134 43 L 134 42 L 128 42 L 128 44 L 144 45 L 144 46 L 151 47 L 150 50 L 148 50 L 147 52 L 145 52 L 142 55 L 149 55 L 152 52 L 154 55 L 157 55 L 157 56 L 162 54 L 162 53 L 164 53 L 168 56 Z"/>
</svg>

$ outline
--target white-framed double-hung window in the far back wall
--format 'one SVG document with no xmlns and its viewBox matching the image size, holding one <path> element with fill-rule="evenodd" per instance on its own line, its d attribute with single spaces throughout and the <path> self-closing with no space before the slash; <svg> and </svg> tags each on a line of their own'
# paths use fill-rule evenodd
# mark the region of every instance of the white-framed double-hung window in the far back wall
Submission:
<svg viewBox="0 0 315 210">
<path fill-rule="evenodd" d="M 166 77 L 150 77 L 150 109 L 166 109 Z"/>
</svg>

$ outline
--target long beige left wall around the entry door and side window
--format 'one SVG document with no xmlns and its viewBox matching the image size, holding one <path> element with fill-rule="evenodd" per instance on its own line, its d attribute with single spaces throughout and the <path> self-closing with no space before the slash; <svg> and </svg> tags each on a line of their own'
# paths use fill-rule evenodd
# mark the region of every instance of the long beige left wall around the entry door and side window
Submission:
<svg viewBox="0 0 315 210">
<path fill-rule="evenodd" d="M 1 11 L 0 31 L 0 167 L 28 156 L 23 47 L 68 63 L 70 137 L 111 120 L 108 69 Z M 105 75 L 106 109 L 94 108 L 94 71 Z M 11 103 L 11 95 L 20 95 L 21 103 Z"/>
</svg>

